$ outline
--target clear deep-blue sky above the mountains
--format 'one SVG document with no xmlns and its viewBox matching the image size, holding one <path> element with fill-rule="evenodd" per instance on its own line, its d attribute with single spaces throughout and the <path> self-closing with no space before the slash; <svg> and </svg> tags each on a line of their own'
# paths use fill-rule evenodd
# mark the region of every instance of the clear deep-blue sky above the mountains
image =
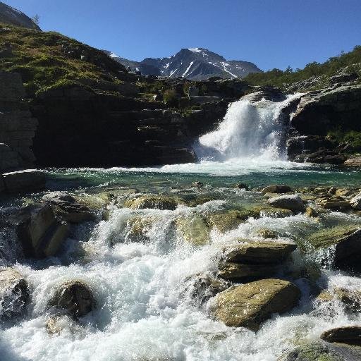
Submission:
<svg viewBox="0 0 361 361">
<path fill-rule="evenodd" d="M 2 0 L 56 30 L 140 61 L 204 47 L 262 70 L 361 45 L 361 0 Z"/>
</svg>

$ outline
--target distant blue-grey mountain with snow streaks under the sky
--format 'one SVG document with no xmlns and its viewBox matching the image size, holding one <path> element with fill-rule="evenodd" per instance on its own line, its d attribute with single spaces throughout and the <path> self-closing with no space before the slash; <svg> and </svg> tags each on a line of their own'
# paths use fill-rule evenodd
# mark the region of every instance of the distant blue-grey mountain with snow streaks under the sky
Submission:
<svg viewBox="0 0 361 361">
<path fill-rule="evenodd" d="M 146 58 L 143 61 L 129 61 L 106 51 L 114 60 L 129 66 L 142 75 L 162 75 L 170 78 L 207 80 L 210 77 L 244 78 L 250 73 L 262 72 L 249 61 L 226 61 L 223 56 L 203 48 L 181 49 L 169 58 Z"/>
</svg>

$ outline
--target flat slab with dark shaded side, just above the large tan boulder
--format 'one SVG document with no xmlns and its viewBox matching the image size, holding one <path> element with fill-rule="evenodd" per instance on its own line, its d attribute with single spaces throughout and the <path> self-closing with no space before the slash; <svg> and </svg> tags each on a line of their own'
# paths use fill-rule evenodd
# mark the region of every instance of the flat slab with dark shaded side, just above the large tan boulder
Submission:
<svg viewBox="0 0 361 361">
<path fill-rule="evenodd" d="M 224 247 L 222 258 L 225 262 L 278 264 L 286 259 L 296 248 L 297 245 L 295 243 L 250 241 L 248 243 Z"/>
</svg>

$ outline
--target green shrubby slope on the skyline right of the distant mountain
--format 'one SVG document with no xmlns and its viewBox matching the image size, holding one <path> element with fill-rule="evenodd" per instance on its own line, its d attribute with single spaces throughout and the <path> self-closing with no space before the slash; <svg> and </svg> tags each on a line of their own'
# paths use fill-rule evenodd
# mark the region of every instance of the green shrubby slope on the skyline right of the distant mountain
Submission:
<svg viewBox="0 0 361 361">
<path fill-rule="evenodd" d="M 324 63 L 307 64 L 303 69 L 286 71 L 273 69 L 264 73 L 252 73 L 244 78 L 250 85 L 274 85 L 281 89 L 287 89 L 291 84 L 300 82 L 299 90 L 315 90 L 327 85 L 331 76 L 342 72 L 355 72 L 361 77 L 361 46 L 357 46 L 348 53 L 331 57 Z M 302 82 L 302 80 L 310 80 Z M 296 85 L 297 86 L 297 85 Z"/>
</svg>

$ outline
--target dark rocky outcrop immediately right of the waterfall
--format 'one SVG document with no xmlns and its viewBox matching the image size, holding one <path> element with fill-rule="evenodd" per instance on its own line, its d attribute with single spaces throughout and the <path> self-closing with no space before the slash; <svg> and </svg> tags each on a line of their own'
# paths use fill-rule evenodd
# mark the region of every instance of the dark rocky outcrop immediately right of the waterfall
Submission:
<svg viewBox="0 0 361 361">
<path fill-rule="evenodd" d="M 361 85 L 340 85 L 300 97 L 290 118 L 288 158 L 294 161 L 343 164 L 342 145 L 326 137 L 334 130 L 361 130 Z M 345 149 L 347 151 L 347 149 Z"/>
</svg>

